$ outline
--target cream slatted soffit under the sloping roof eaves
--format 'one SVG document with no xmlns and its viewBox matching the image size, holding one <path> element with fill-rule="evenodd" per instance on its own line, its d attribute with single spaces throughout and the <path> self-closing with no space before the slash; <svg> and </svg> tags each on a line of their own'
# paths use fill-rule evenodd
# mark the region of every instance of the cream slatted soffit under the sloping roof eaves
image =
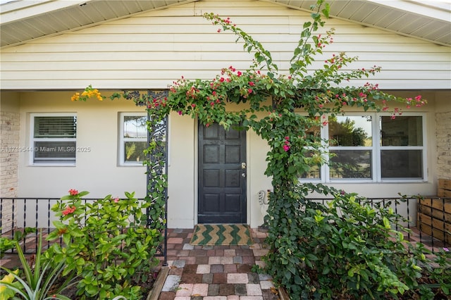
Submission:
<svg viewBox="0 0 451 300">
<path fill-rule="evenodd" d="M 187 4 L 196 0 L 45 0 L 2 1 L 0 46 L 80 30 L 135 13 Z M 314 0 L 263 0 L 309 11 Z M 414 0 L 333 0 L 330 16 L 400 35 L 451 46 L 451 3 Z"/>
</svg>

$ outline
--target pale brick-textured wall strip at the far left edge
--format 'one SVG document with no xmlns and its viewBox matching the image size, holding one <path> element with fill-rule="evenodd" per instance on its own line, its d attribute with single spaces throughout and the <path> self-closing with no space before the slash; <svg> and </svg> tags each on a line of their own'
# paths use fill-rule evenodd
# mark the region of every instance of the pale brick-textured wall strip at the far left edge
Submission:
<svg viewBox="0 0 451 300">
<path fill-rule="evenodd" d="M 0 197 L 13 198 L 18 189 L 19 113 L 0 111 Z M 11 200 L 1 201 L 1 232 L 11 230 Z"/>
</svg>

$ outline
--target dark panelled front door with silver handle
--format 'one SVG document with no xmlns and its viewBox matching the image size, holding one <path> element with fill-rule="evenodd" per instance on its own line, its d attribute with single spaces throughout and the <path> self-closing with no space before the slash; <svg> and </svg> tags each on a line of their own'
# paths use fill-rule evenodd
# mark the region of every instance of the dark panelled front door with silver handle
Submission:
<svg viewBox="0 0 451 300">
<path fill-rule="evenodd" d="M 246 132 L 199 124 L 198 223 L 246 223 Z"/>
</svg>

